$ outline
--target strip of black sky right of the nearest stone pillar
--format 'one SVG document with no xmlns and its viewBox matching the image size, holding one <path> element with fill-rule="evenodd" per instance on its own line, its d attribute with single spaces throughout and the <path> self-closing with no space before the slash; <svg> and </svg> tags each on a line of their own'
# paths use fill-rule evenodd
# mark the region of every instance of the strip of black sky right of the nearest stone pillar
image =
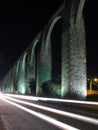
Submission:
<svg viewBox="0 0 98 130">
<path fill-rule="evenodd" d="M 97 0 L 86 0 L 84 18 L 86 28 L 87 72 L 98 75 L 98 6 Z"/>
</svg>

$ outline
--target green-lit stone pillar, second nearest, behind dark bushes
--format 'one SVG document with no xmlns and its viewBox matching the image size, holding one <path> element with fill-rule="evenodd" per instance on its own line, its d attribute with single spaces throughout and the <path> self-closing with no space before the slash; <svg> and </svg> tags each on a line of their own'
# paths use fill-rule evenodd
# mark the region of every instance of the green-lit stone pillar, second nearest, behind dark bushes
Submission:
<svg viewBox="0 0 98 130">
<path fill-rule="evenodd" d="M 37 68 L 36 68 L 36 95 L 42 96 L 43 90 L 42 85 L 45 81 L 48 81 L 51 79 L 51 44 L 48 46 L 47 53 L 45 53 L 45 44 L 46 44 L 46 31 L 47 29 L 44 29 L 42 31 L 41 40 L 37 47 Z M 39 51 L 38 51 L 39 50 Z"/>
</svg>

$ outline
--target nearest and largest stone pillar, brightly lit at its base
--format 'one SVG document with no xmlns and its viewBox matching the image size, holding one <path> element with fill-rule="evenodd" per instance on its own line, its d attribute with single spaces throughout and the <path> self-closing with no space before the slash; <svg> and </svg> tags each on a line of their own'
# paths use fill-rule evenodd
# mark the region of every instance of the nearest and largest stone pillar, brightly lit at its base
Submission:
<svg viewBox="0 0 98 130">
<path fill-rule="evenodd" d="M 83 1 L 66 0 L 62 31 L 62 97 L 86 97 L 86 47 Z"/>
</svg>

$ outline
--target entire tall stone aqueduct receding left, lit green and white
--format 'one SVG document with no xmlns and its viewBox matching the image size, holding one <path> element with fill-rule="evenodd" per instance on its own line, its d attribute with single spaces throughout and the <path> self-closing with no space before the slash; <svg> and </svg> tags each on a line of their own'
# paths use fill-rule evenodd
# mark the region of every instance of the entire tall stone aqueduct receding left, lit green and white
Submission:
<svg viewBox="0 0 98 130">
<path fill-rule="evenodd" d="M 84 3 L 85 0 L 64 0 L 48 24 L 4 77 L 1 83 L 3 92 L 26 94 L 27 83 L 33 79 L 36 83 L 36 96 L 44 96 L 43 83 L 54 82 L 59 77 L 57 87 L 60 97 L 85 98 Z M 52 87 L 55 87 L 53 83 Z"/>
</svg>

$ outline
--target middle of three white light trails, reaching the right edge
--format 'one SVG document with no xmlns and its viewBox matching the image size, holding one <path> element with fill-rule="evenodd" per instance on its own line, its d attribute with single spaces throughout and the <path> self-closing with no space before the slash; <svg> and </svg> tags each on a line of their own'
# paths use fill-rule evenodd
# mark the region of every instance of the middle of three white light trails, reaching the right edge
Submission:
<svg viewBox="0 0 98 130">
<path fill-rule="evenodd" d="M 29 105 L 29 106 L 32 106 L 32 107 L 35 107 L 35 108 L 38 108 L 38 109 L 42 109 L 42 110 L 53 112 L 53 113 L 56 113 L 56 114 L 59 114 L 59 115 L 62 115 L 62 116 L 67 116 L 67 117 L 70 117 L 70 118 L 78 119 L 78 120 L 83 121 L 83 122 L 98 125 L 98 120 L 94 119 L 94 118 L 90 118 L 90 117 L 86 117 L 86 116 L 82 116 L 82 115 L 78 115 L 78 114 L 74 114 L 74 113 L 70 113 L 70 112 L 65 112 L 65 111 L 62 111 L 62 110 L 37 105 L 37 104 L 34 104 L 34 103 L 20 101 L 20 100 L 13 99 L 13 98 L 7 97 L 7 96 L 4 96 L 4 97 L 9 99 L 9 100 L 12 100 L 12 101 L 15 101 L 15 102 L 18 102 L 18 103 L 22 103 L 22 104 L 25 104 L 25 105 Z"/>
</svg>

